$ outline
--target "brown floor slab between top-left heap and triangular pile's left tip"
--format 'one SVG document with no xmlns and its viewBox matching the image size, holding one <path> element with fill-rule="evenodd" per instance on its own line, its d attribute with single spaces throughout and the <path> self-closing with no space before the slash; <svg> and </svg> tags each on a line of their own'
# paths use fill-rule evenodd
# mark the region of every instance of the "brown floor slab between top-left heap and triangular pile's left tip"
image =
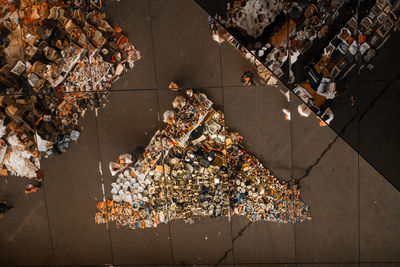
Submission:
<svg viewBox="0 0 400 267">
<path fill-rule="evenodd" d="M 109 233 L 94 223 L 96 203 L 102 199 L 94 113 L 88 112 L 80 125 L 78 144 L 42 161 L 56 264 L 112 264 Z"/>
</svg>

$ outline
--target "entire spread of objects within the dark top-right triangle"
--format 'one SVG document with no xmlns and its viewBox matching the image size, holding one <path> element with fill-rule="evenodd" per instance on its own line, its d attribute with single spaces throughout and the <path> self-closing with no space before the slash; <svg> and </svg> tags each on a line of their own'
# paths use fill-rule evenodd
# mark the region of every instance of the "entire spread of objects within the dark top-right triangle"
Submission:
<svg viewBox="0 0 400 267">
<path fill-rule="evenodd" d="M 332 103 L 347 90 L 347 77 L 372 70 L 378 50 L 400 29 L 398 0 L 225 2 L 226 12 L 215 17 L 250 51 L 246 58 L 278 78 L 288 72 L 289 82 L 297 83 L 294 92 L 307 104 L 299 114 L 314 111 L 321 125 L 334 119 Z M 214 39 L 228 40 L 246 54 L 229 33 L 214 28 Z"/>
</svg>

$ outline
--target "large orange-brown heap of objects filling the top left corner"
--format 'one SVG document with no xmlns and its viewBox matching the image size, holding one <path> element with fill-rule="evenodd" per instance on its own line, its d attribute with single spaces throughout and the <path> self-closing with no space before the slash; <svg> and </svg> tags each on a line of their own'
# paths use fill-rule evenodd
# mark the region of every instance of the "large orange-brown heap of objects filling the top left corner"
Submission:
<svg viewBox="0 0 400 267">
<path fill-rule="evenodd" d="M 65 152 L 78 119 L 140 59 L 100 8 L 98 0 L 0 0 L 2 175 L 36 177 L 39 153 Z"/>
</svg>

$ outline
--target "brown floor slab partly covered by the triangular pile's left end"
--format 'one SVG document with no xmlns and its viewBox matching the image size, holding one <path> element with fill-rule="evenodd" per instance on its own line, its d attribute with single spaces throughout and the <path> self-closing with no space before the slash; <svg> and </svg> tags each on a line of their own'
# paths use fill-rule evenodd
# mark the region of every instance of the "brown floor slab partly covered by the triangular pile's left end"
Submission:
<svg viewBox="0 0 400 267">
<path fill-rule="evenodd" d="M 115 178 L 108 163 L 138 146 L 146 147 L 160 127 L 157 90 L 113 92 L 97 119 L 105 189 L 111 197 Z M 128 230 L 111 223 L 110 231 L 115 264 L 172 264 L 168 226 Z"/>
</svg>

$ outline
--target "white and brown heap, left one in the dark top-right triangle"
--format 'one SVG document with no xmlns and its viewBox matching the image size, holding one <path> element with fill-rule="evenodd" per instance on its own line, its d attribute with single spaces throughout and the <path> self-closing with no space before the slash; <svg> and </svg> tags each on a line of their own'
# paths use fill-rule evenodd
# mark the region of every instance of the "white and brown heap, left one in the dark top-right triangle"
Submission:
<svg viewBox="0 0 400 267">
<path fill-rule="evenodd" d="M 278 78 L 289 59 L 288 33 L 296 26 L 291 18 L 302 7 L 295 1 L 229 0 L 219 23 L 236 37 Z M 302 2 L 309 2 L 302 1 Z M 250 60 L 250 58 L 248 58 Z"/>
</svg>

